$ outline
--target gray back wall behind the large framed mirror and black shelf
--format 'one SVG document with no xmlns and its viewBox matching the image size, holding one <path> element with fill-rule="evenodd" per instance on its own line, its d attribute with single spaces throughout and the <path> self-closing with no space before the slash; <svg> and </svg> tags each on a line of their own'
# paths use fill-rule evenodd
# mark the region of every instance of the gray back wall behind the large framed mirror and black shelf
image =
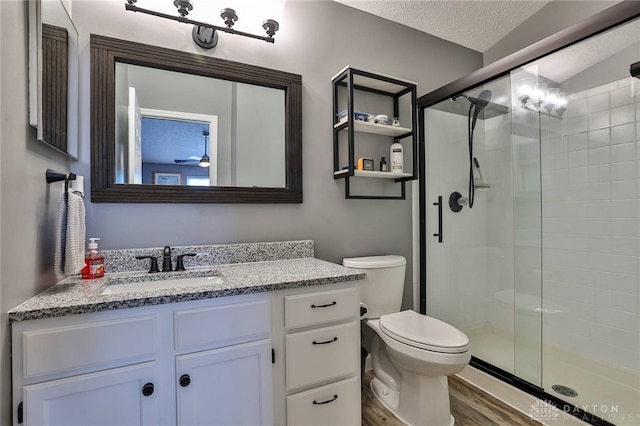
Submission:
<svg viewBox="0 0 640 426">
<path fill-rule="evenodd" d="M 242 19 L 243 11 L 238 12 Z M 325 260 L 399 254 L 410 262 L 407 271 L 412 270 L 411 200 L 345 200 L 344 182 L 333 179 L 331 78 L 351 65 L 416 81 L 423 94 L 478 68 L 481 55 L 331 1 L 287 2 L 283 13 L 273 45 L 221 34 L 216 49 L 202 51 L 192 42 L 189 26 L 125 12 L 118 2 L 74 3 L 84 48 L 84 143 L 74 169 L 85 176 L 90 164 L 90 32 L 298 73 L 303 80 L 303 204 L 88 203 L 87 235 L 102 238 L 101 247 L 308 238 L 316 242 L 317 257 Z M 408 273 L 406 306 L 411 300 L 411 278 Z"/>
</svg>

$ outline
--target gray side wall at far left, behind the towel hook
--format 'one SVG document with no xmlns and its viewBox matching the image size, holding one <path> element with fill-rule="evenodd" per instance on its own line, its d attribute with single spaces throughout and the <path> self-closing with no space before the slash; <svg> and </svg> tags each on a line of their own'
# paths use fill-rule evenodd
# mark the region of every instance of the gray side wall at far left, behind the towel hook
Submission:
<svg viewBox="0 0 640 426">
<path fill-rule="evenodd" d="M 69 160 L 29 127 L 27 2 L 0 2 L 0 424 L 11 422 L 7 311 L 55 283 L 53 242 L 60 184 L 45 170 Z"/>
</svg>

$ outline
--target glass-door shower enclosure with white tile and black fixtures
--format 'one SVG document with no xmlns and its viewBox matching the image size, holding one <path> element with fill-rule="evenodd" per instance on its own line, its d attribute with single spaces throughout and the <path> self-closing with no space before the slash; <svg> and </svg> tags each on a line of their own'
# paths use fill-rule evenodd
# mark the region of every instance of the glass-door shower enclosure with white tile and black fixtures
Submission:
<svg viewBox="0 0 640 426">
<path fill-rule="evenodd" d="M 469 336 L 473 366 L 555 403 L 541 421 L 640 425 L 640 7 L 624 3 L 418 100 L 421 310 Z"/>
</svg>

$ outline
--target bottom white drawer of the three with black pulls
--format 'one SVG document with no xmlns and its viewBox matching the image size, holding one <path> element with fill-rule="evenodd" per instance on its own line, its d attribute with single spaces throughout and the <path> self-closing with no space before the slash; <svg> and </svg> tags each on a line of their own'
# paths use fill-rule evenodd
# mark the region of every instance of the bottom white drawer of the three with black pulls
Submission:
<svg viewBox="0 0 640 426">
<path fill-rule="evenodd" d="M 287 424 L 360 425 L 360 378 L 351 377 L 287 397 Z"/>
</svg>

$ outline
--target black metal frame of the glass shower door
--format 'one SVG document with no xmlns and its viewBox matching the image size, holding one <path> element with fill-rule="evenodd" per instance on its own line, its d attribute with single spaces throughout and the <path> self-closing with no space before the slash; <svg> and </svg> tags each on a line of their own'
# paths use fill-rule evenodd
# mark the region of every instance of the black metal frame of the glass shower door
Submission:
<svg viewBox="0 0 640 426">
<path fill-rule="evenodd" d="M 639 17 L 640 2 L 623 1 L 575 25 L 559 31 L 537 43 L 534 43 L 522 50 L 519 50 L 509 56 L 506 56 L 490 65 L 480 68 L 462 78 L 459 78 L 458 80 L 455 80 L 418 98 L 418 206 L 420 212 L 420 240 L 418 256 L 420 265 L 419 308 L 422 314 L 427 313 L 427 242 L 429 238 L 446 238 L 447 231 L 446 228 L 443 229 L 441 223 L 438 234 L 427 235 L 427 211 L 429 211 L 432 206 L 428 204 L 428 201 L 426 199 L 427 184 L 425 158 L 425 110 L 433 105 L 436 105 L 439 102 L 451 98 L 452 96 L 459 95 L 463 92 L 477 88 L 498 78 L 507 76 L 511 73 L 511 71 L 520 68 L 530 62 L 536 61 L 561 49 L 569 47 L 590 37 L 596 36 L 602 32 L 605 32 L 609 29 L 612 29 Z M 442 242 L 442 240 L 440 240 L 440 242 Z M 570 407 L 571 413 L 579 415 L 581 419 L 586 419 L 591 424 L 611 425 L 611 423 L 602 420 L 591 413 L 585 412 L 580 408 L 568 403 L 567 401 L 546 393 L 543 388 L 522 380 L 515 374 L 502 370 L 488 362 L 482 361 L 481 359 L 472 357 L 470 365 L 537 398 L 545 401 L 550 401 L 558 407 Z"/>
</svg>

